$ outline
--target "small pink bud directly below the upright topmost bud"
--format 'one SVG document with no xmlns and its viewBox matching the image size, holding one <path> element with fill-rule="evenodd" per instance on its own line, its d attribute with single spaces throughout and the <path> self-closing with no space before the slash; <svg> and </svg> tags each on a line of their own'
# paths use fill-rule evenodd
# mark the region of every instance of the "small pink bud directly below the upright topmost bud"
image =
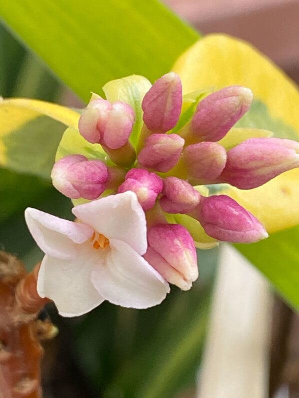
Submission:
<svg viewBox="0 0 299 398">
<path fill-rule="evenodd" d="M 177 134 L 152 134 L 145 139 L 138 162 L 142 167 L 165 173 L 178 162 L 184 142 Z"/>
</svg>

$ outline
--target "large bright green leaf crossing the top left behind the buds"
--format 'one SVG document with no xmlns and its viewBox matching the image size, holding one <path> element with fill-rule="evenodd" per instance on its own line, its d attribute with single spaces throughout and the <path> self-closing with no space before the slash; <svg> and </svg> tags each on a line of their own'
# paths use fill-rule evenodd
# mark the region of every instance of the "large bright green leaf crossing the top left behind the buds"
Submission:
<svg viewBox="0 0 299 398">
<path fill-rule="evenodd" d="M 115 78 L 157 79 L 198 39 L 156 0 L 11 0 L 0 14 L 86 101 Z"/>
</svg>

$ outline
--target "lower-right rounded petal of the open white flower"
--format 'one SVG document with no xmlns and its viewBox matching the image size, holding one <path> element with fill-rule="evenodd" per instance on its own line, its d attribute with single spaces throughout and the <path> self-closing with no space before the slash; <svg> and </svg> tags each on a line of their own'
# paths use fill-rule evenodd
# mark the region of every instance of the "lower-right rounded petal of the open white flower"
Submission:
<svg viewBox="0 0 299 398">
<path fill-rule="evenodd" d="M 160 304 L 168 283 L 125 242 L 110 240 L 104 265 L 97 264 L 91 281 L 100 295 L 122 307 L 148 308 Z"/>
</svg>

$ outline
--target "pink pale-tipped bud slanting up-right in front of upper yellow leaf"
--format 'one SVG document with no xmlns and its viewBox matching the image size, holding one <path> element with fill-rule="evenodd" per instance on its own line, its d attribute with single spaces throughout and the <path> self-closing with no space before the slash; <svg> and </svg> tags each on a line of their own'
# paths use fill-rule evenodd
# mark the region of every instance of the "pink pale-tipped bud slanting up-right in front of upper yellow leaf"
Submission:
<svg viewBox="0 0 299 398">
<path fill-rule="evenodd" d="M 229 86 L 205 97 L 192 117 L 192 132 L 204 141 L 218 141 L 247 112 L 252 92 L 242 86 Z"/>
</svg>

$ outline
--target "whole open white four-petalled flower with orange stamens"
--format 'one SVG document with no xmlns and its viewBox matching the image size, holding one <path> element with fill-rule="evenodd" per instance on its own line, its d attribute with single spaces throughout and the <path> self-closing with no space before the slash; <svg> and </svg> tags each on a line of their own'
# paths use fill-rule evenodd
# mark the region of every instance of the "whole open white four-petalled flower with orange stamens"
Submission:
<svg viewBox="0 0 299 398">
<path fill-rule="evenodd" d="M 45 253 L 37 279 L 40 297 L 65 317 L 85 314 L 104 300 L 123 307 L 161 303 L 167 282 L 141 257 L 146 220 L 127 191 L 75 206 L 72 222 L 27 208 L 27 226 Z"/>
</svg>

